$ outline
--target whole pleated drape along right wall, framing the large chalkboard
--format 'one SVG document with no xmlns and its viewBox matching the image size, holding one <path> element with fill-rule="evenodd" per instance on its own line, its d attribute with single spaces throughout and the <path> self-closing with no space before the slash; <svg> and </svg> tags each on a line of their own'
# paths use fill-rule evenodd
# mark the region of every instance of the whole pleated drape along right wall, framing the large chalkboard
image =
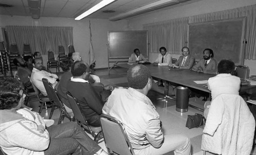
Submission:
<svg viewBox="0 0 256 155">
<path fill-rule="evenodd" d="M 247 44 L 244 51 L 245 59 L 256 60 L 256 5 L 148 23 L 143 25 L 143 29 L 148 31 L 150 52 L 158 53 L 159 47 L 165 46 L 169 53 L 181 54 L 181 48 L 186 45 L 187 41 L 188 23 L 239 17 L 246 17 L 245 39 Z"/>
</svg>

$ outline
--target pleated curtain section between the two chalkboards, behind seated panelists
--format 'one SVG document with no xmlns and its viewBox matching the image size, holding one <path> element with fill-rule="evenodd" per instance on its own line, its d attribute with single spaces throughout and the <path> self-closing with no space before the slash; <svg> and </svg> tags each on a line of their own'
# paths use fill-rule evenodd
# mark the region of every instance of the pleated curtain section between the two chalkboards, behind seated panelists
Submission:
<svg viewBox="0 0 256 155">
<path fill-rule="evenodd" d="M 164 46 L 171 54 L 180 54 L 187 43 L 188 17 L 144 24 L 148 31 L 148 51 L 158 53 Z"/>
</svg>

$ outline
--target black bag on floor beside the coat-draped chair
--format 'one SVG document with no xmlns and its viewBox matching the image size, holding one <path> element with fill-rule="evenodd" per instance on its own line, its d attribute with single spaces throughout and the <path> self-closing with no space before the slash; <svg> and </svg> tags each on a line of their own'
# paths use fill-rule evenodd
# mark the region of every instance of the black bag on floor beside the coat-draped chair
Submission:
<svg viewBox="0 0 256 155">
<path fill-rule="evenodd" d="M 205 124 L 203 115 L 196 113 L 195 115 L 187 115 L 186 127 L 194 128 Z"/>
</svg>

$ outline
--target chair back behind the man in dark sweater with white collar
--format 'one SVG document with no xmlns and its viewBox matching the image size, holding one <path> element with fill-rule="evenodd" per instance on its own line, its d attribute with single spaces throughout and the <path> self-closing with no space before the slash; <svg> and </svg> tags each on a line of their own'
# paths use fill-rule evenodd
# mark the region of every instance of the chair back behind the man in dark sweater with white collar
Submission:
<svg viewBox="0 0 256 155">
<path fill-rule="evenodd" d="M 71 106 L 71 109 L 74 113 L 74 117 L 76 118 L 76 121 L 82 124 L 85 124 L 88 126 L 88 123 L 86 121 L 86 117 L 83 116 L 81 110 L 80 110 L 80 105 L 79 102 L 77 100 L 77 98 L 75 98 L 70 92 L 67 92 L 67 97 L 69 100 L 69 104 Z"/>
</svg>

